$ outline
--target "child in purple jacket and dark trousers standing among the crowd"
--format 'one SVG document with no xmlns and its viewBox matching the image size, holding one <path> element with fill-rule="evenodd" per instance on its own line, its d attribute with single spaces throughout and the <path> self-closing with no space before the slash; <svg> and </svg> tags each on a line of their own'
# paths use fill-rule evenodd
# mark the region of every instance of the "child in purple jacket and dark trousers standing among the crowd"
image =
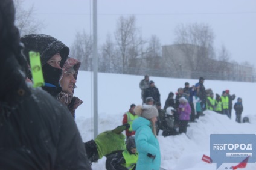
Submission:
<svg viewBox="0 0 256 170">
<path fill-rule="evenodd" d="M 185 97 L 181 97 L 179 103 L 177 109 L 179 114 L 179 133 L 186 133 L 188 121 L 190 120 L 191 107 Z"/>
</svg>

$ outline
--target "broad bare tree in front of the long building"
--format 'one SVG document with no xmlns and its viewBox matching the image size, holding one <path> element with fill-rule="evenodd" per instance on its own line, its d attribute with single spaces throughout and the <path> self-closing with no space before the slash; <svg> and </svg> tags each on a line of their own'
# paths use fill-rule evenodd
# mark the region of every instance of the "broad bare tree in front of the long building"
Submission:
<svg viewBox="0 0 256 170">
<path fill-rule="evenodd" d="M 178 25 L 175 44 L 184 53 L 188 70 L 207 71 L 213 52 L 214 32 L 205 23 Z"/>
</svg>

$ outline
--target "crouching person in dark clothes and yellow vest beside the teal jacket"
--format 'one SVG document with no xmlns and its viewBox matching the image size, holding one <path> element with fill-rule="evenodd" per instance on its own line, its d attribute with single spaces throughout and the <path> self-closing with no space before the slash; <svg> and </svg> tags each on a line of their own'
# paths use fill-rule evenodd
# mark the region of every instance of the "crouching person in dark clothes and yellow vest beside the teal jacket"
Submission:
<svg viewBox="0 0 256 170">
<path fill-rule="evenodd" d="M 126 141 L 126 149 L 107 156 L 107 170 L 135 170 L 138 160 L 135 138 L 130 136 Z"/>
</svg>

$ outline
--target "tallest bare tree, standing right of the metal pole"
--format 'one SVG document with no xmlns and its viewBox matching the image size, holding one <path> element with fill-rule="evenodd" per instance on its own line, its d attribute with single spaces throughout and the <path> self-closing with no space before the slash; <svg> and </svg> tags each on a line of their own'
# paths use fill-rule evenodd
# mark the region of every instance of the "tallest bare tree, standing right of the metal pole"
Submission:
<svg viewBox="0 0 256 170">
<path fill-rule="evenodd" d="M 121 56 L 121 66 L 123 73 L 127 73 L 127 68 L 133 67 L 135 58 L 141 55 L 141 49 L 145 43 L 139 37 L 139 29 L 136 28 L 135 16 L 121 16 L 117 21 L 117 29 L 114 32 L 117 42 L 118 52 Z"/>
</svg>

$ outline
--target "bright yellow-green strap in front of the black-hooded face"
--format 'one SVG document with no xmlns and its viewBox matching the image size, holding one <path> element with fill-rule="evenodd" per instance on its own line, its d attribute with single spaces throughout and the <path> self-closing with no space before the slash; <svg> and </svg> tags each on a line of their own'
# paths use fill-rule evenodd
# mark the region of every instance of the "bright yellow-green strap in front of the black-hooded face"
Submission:
<svg viewBox="0 0 256 170">
<path fill-rule="evenodd" d="M 30 51 L 30 67 L 33 77 L 33 87 L 40 87 L 45 85 L 45 80 L 43 79 L 43 71 L 40 59 L 40 53 Z"/>
</svg>

